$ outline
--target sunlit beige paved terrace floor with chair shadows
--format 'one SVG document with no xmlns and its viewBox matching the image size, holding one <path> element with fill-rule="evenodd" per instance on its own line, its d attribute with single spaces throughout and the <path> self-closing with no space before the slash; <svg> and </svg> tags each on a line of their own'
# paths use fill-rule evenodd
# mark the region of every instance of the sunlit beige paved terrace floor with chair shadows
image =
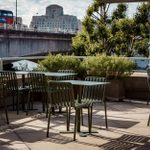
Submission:
<svg viewBox="0 0 150 150">
<path fill-rule="evenodd" d="M 40 107 L 36 103 L 35 107 Z M 73 141 L 73 134 L 60 134 L 66 130 L 65 113 L 52 116 L 50 138 L 46 138 L 47 118 L 37 110 L 25 112 L 9 111 L 10 125 L 6 125 L 4 115 L 0 115 L 0 150 L 149 150 L 150 126 L 147 126 L 150 105 L 125 100 L 108 102 L 108 123 L 105 128 L 104 108 L 94 106 L 93 130 L 98 133 L 79 136 Z M 72 110 L 71 129 L 74 111 Z M 82 130 L 87 130 L 87 111 L 84 111 Z"/>
</svg>

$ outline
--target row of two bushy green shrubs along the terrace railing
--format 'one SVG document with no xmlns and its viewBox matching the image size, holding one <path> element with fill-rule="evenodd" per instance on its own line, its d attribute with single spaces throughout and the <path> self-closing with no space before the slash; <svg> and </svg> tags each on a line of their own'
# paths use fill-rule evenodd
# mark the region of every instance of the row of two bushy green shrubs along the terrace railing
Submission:
<svg viewBox="0 0 150 150">
<path fill-rule="evenodd" d="M 39 64 L 39 70 L 74 70 L 80 78 L 84 78 L 86 75 L 94 75 L 117 79 L 131 75 L 134 68 L 134 63 L 128 58 L 104 54 L 88 56 L 83 61 L 74 55 L 49 54 Z"/>
</svg>

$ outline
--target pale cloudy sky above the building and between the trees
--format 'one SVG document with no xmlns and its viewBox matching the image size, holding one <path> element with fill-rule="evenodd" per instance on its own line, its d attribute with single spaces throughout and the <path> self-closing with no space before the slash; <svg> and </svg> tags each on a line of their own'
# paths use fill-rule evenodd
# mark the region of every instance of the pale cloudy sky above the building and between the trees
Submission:
<svg viewBox="0 0 150 150">
<path fill-rule="evenodd" d="M 32 16 L 44 15 L 46 7 L 57 4 L 63 7 L 64 14 L 77 16 L 83 20 L 86 9 L 93 0 L 17 0 L 17 16 L 23 18 L 23 23 L 30 25 Z M 111 4 L 110 12 L 114 10 L 115 4 Z M 128 15 L 136 12 L 139 3 L 129 3 Z M 16 15 L 16 0 L 0 0 L 0 9 L 11 10 Z"/>
</svg>

